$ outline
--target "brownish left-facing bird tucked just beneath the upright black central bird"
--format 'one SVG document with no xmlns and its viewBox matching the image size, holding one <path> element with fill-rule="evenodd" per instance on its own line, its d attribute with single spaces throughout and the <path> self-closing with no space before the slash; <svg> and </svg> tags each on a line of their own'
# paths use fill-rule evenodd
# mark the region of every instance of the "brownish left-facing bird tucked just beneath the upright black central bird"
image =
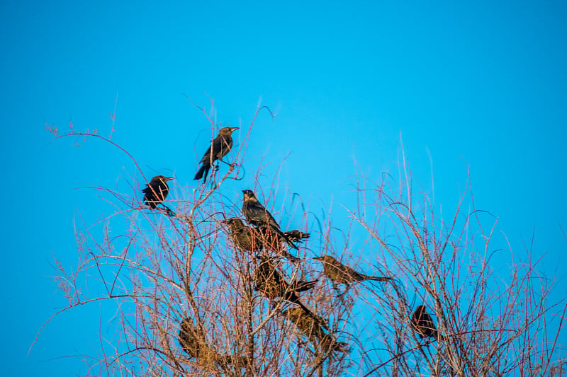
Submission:
<svg viewBox="0 0 567 377">
<path fill-rule="evenodd" d="M 224 222 L 230 229 L 230 238 L 232 238 L 236 247 L 240 250 L 256 253 L 264 248 L 274 251 L 293 262 L 299 260 L 298 257 L 291 255 L 283 248 L 283 242 L 286 241 L 286 239 L 279 236 L 277 233 L 269 231 L 266 226 L 252 228 L 252 226 L 245 225 L 242 219 L 238 219 L 237 217 L 232 217 Z M 300 242 L 309 238 L 309 233 L 303 233 L 298 230 L 286 231 L 283 232 L 283 235 L 287 236 L 290 240 L 298 240 Z"/>
</svg>

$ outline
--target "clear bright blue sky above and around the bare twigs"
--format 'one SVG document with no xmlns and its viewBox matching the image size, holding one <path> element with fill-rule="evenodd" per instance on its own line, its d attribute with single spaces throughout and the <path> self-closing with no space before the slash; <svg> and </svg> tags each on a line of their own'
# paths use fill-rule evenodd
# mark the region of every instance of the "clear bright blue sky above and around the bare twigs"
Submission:
<svg viewBox="0 0 567 377">
<path fill-rule="evenodd" d="M 432 166 L 439 204 L 454 205 L 470 166 L 476 207 L 500 218 L 494 248 L 506 247 L 503 231 L 523 255 L 534 234 L 541 270 L 565 296 L 565 2 L 115 3 L 0 4 L 6 376 L 84 373 L 76 359 L 48 360 L 97 347 L 99 315 L 77 310 L 28 356 L 62 305 L 52 253 L 71 267 L 74 218 L 109 209 L 74 188 L 116 187 L 133 169 L 98 141 L 50 144 L 44 125 L 108 132 L 117 91 L 113 140 L 150 177 L 172 169 L 184 186 L 210 131 L 181 93 L 208 105 L 206 91 L 236 126 L 262 98 L 278 117 L 259 117 L 249 153 L 291 153 L 281 184 L 321 207 L 352 204 L 353 157 L 376 180 L 395 171 L 401 133 L 426 185 Z"/>
</svg>

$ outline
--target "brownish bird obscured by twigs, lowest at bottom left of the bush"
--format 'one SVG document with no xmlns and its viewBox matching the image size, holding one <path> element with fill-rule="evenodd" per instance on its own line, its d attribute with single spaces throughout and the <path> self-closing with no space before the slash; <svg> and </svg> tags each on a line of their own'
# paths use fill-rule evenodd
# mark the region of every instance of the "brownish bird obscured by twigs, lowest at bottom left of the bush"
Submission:
<svg viewBox="0 0 567 377">
<path fill-rule="evenodd" d="M 221 355 L 212 349 L 205 339 L 199 334 L 197 327 L 189 318 L 181 321 L 179 329 L 179 344 L 181 348 L 192 358 L 199 359 L 202 364 L 210 364 L 214 362 L 220 366 L 240 365 L 246 363 L 244 356 Z"/>
</svg>

